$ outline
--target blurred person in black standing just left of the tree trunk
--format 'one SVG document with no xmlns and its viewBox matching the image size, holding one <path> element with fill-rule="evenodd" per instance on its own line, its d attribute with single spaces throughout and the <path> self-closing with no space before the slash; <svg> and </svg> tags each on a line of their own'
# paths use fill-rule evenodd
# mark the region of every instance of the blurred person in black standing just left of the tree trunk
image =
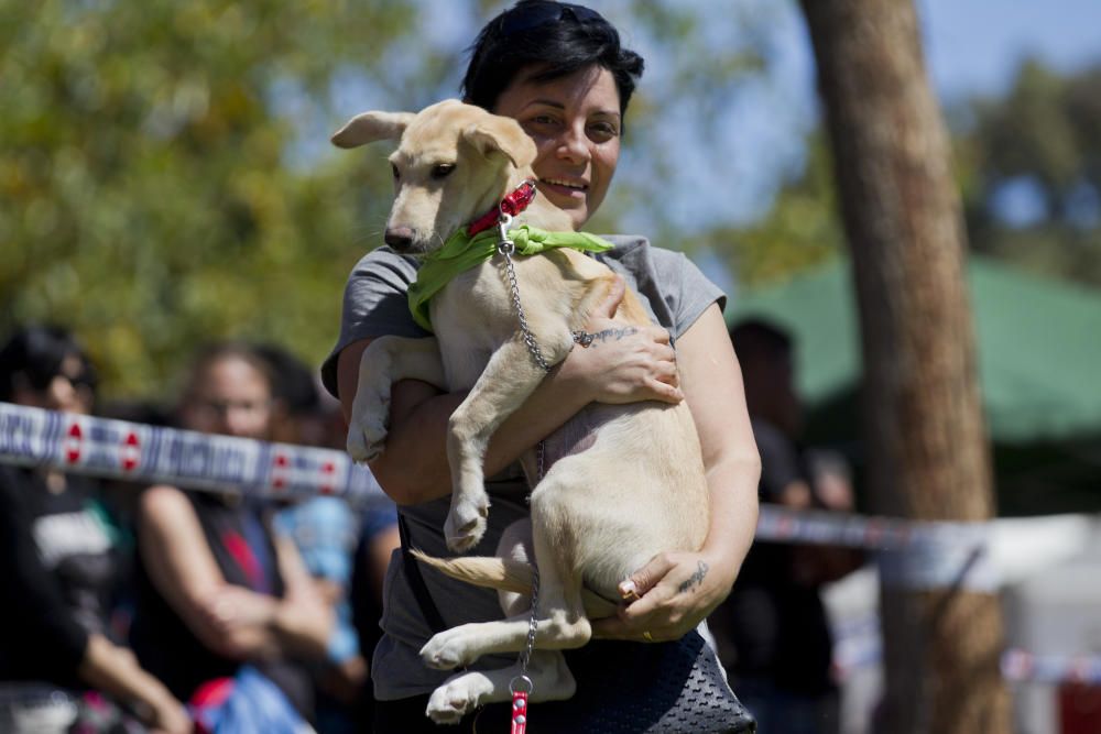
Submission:
<svg viewBox="0 0 1101 734">
<path fill-rule="evenodd" d="M 761 452 L 761 502 L 851 512 L 844 459 L 800 443 L 803 407 L 791 337 L 750 319 L 735 325 L 730 339 Z M 848 548 L 754 543 L 730 596 L 708 618 L 731 684 L 762 732 L 838 732 L 833 644 L 820 588 L 862 562 L 862 554 Z"/>
</svg>

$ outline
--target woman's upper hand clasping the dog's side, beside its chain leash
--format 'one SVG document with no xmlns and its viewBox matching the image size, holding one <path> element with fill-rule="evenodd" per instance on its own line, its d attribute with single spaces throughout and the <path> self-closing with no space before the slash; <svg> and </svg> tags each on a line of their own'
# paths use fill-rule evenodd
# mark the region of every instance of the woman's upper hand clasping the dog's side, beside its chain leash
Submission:
<svg viewBox="0 0 1101 734">
<path fill-rule="evenodd" d="M 684 395 L 669 332 L 659 326 L 612 320 L 625 291 L 623 278 L 617 276 L 615 286 L 589 316 L 585 330 L 591 341 L 574 348 L 559 375 L 575 381 L 598 403 L 679 403 Z"/>
</svg>

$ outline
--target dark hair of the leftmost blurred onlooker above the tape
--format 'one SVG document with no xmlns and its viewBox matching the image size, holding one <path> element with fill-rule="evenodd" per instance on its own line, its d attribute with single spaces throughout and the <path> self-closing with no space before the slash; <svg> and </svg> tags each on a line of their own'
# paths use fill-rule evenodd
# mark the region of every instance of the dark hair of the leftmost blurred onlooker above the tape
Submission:
<svg viewBox="0 0 1101 734">
<path fill-rule="evenodd" d="M 11 336 L 0 348 L 0 401 L 11 402 L 18 387 L 44 391 L 62 373 L 68 357 L 80 360 L 80 372 L 69 375 L 74 383 L 95 391 L 96 370 L 84 347 L 67 329 L 56 326 L 29 326 Z"/>
</svg>

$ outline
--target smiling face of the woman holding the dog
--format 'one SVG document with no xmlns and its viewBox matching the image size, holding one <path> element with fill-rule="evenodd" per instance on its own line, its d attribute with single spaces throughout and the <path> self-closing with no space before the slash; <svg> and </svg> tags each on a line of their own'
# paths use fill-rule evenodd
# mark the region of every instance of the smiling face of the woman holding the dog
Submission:
<svg viewBox="0 0 1101 734">
<path fill-rule="evenodd" d="M 493 109 L 515 118 L 535 141 L 537 188 L 569 213 L 575 229 L 608 194 L 619 162 L 619 110 L 615 80 L 599 66 L 550 81 L 532 81 L 531 73 L 521 73 Z"/>
</svg>

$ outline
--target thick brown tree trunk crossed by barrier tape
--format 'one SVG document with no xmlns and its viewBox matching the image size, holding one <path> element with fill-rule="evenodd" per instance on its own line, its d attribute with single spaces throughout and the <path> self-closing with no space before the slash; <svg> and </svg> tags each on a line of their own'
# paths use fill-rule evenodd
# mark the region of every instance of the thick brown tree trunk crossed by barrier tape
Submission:
<svg viewBox="0 0 1101 734">
<path fill-rule="evenodd" d="M 988 519 L 962 217 L 913 2 L 803 0 L 803 10 L 852 251 L 874 510 Z M 877 731 L 1010 732 L 998 598 L 883 588 Z"/>
</svg>

